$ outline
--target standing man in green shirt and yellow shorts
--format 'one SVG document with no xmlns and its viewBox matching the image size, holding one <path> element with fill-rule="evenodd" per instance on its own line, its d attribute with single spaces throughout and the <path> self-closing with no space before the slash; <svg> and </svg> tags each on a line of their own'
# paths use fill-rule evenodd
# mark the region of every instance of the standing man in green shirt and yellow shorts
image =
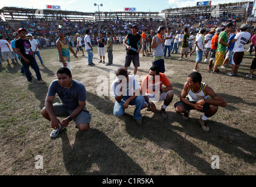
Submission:
<svg viewBox="0 0 256 187">
<path fill-rule="evenodd" d="M 230 46 L 228 44 L 228 33 L 231 32 L 231 30 L 234 28 L 233 23 L 228 23 L 226 25 L 225 30 L 218 35 L 218 47 L 215 53 L 215 64 L 213 68 L 213 73 L 219 73 L 220 70 L 218 70 L 218 65 L 223 64 L 223 60 L 225 57 L 225 50 L 226 47 Z"/>
</svg>

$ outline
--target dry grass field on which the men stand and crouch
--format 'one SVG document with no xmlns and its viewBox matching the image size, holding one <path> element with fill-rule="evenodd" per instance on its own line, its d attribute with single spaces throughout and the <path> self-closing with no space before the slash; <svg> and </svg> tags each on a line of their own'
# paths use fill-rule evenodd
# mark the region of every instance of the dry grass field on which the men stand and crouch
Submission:
<svg viewBox="0 0 256 187">
<path fill-rule="evenodd" d="M 165 74 L 174 92 L 167 107 L 169 118 L 161 118 L 159 110 L 163 103 L 159 102 L 155 114 L 142 110 L 143 124 L 139 126 L 133 120 L 134 106 L 126 110 L 126 115 L 115 117 L 114 98 L 109 91 L 97 95 L 97 86 L 102 84 L 100 79 L 97 81 L 99 75 L 110 79 L 110 71 L 123 67 L 124 47 L 116 45 L 113 49 L 112 66 L 98 63 L 96 47 L 95 67 L 87 65 L 86 51 L 86 57 L 78 53 L 77 61 L 72 56 L 73 78 L 86 86 L 86 106 L 92 120 L 86 132 L 79 131 L 71 122 L 54 139 L 49 137 L 50 123 L 40 112 L 48 86 L 56 79 L 60 67 L 57 50 L 40 50 L 45 66 L 39 68 L 46 84 L 38 84 L 35 78 L 35 84 L 27 84 L 19 72 L 20 63 L 7 67 L 2 62 L 0 175 L 256 175 L 256 82 L 255 78 L 245 77 L 252 58 L 248 52 L 245 51 L 244 63 L 235 77 L 225 75 L 230 68 L 220 68 L 220 74 L 211 74 L 207 63 L 199 64 L 203 82 L 228 103 L 210 117 L 210 133 L 204 133 L 197 122 L 201 113 L 191 111 L 190 119 L 184 122 L 173 107 L 193 70 L 196 53 L 188 61 L 178 61 L 180 54 L 165 60 Z M 143 77 L 150 67 L 151 57 L 140 54 L 137 75 Z M 133 71 L 133 65 L 129 70 Z M 31 72 L 35 77 L 35 72 Z M 59 102 L 58 96 L 55 102 Z M 36 155 L 42 156 L 43 169 L 36 169 Z M 219 169 L 211 168 L 214 155 L 220 159 Z"/>
</svg>

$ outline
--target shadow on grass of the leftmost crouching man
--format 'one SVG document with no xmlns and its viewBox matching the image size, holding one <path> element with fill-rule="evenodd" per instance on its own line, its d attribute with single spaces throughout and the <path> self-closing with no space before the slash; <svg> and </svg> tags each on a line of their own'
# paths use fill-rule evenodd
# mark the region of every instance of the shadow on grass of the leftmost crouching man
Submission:
<svg viewBox="0 0 256 187">
<path fill-rule="evenodd" d="M 70 175 L 145 175 L 123 150 L 97 129 L 78 131 L 70 144 L 61 133 L 63 162 Z"/>
</svg>

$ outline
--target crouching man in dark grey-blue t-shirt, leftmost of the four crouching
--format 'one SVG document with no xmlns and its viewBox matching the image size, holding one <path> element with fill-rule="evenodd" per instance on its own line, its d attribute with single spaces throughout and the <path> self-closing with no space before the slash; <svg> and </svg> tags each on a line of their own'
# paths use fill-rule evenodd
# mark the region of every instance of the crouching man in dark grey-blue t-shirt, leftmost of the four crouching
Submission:
<svg viewBox="0 0 256 187">
<path fill-rule="evenodd" d="M 41 113 L 48 119 L 54 129 L 50 137 L 56 137 L 60 130 L 65 129 L 72 120 L 76 128 L 86 131 L 89 128 L 91 115 L 86 110 L 86 89 L 85 86 L 72 79 L 69 68 L 62 67 L 57 71 L 58 79 L 52 81 L 45 99 L 45 107 Z M 56 93 L 61 103 L 53 103 Z M 57 116 L 65 117 L 62 122 Z"/>
</svg>

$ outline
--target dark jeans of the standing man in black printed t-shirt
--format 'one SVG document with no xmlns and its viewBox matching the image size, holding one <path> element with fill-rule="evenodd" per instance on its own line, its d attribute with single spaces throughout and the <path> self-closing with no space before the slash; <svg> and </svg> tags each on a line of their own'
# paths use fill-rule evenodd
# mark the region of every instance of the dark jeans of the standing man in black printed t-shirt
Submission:
<svg viewBox="0 0 256 187">
<path fill-rule="evenodd" d="M 29 63 L 26 63 L 22 58 L 21 58 L 21 63 L 22 63 L 22 67 L 24 69 L 24 73 L 26 75 L 26 79 L 28 81 L 32 81 L 32 77 L 31 77 L 31 72 L 29 71 L 29 66 L 32 67 L 32 69 L 35 71 L 36 73 L 36 78 L 39 80 L 42 79 L 41 77 L 41 73 L 38 67 L 38 63 L 36 63 L 35 58 L 29 60 Z"/>
</svg>

